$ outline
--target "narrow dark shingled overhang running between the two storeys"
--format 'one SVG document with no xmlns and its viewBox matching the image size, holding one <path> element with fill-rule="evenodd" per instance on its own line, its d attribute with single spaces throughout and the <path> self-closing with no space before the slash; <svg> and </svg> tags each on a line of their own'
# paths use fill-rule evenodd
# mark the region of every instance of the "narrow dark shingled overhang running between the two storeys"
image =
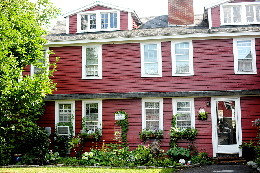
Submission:
<svg viewBox="0 0 260 173">
<path fill-rule="evenodd" d="M 99 94 L 53 94 L 43 100 L 82 100 L 82 99 L 114 99 L 114 98 L 146 98 L 146 97 L 212 97 L 212 96 L 252 96 L 259 95 L 260 90 L 229 90 L 229 91 L 177 91 L 177 92 L 126 92 Z"/>
</svg>

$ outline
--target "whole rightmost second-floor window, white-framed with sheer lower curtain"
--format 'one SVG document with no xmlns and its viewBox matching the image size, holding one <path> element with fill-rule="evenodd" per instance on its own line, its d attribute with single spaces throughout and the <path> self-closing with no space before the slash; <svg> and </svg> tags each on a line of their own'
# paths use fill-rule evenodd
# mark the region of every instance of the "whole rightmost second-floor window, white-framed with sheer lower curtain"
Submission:
<svg viewBox="0 0 260 173">
<path fill-rule="evenodd" d="M 235 74 L 256 74 L 255 38 L 233 39 Z"/>
</svg>

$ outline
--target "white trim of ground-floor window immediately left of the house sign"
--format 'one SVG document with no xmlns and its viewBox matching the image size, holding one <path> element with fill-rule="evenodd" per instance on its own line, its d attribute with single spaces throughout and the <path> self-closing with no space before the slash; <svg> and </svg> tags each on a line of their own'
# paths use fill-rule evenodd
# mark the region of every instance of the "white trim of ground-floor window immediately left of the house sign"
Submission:
<svg viewBox="0 0 260 173">
<path fill-rule="evenodd" d="M 86 113 L 86 104 L 91 104 L 91 103 L 98 103 L 98 128 L 102 128 L 102 100 L 101 99 L 88 99 L 88 100 L 82 100 L 82 118 L 85 117 Z M 85 126 L 85 125 L 84 125 Z"/>
</svg>

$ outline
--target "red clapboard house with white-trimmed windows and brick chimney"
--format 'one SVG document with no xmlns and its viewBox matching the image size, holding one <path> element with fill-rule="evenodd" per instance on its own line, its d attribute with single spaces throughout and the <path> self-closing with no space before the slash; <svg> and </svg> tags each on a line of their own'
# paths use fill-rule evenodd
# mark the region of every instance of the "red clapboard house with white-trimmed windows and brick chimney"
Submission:
<svg viewBox="0 0 260 173">
<path fill-rule="evenodd" d="M 259 1 L 222 0 L 198 15 L 192 0 L 168 0 L 168 15 L 145 18 L 127 7 L 96 2 L 63 16 L 66 21 L 58 21 L 45 37 L 45 49 L 55 53 L 50 62 L 60 57 L 51 77 L 57 91 L 44 98 L 38 121 L 51 127 L 51 140 L 64 106 L 75 116 L 74 135 L 82 118 L 90 117 L 86 109 L 95 111 L 92 122 L 101 124 L 106 143 L 113 142 L 114 113 L 125 111 L 130 150 L 142 142 L 138 132 L 159 126 L 167 151 L 175 114 L 185 115 L 177 127 L 198 129 L 195 146 L 210 157 L 242 156 L 238 145 L 256 137 L 251 121 L 260 114 Z M 197 119 L 201 107 L 209 112 L 207 120 Z M 154 108 L 155 114 L 145 111 Z M 87 141 L 84 151 L 93 145 Z"/>
</svg>

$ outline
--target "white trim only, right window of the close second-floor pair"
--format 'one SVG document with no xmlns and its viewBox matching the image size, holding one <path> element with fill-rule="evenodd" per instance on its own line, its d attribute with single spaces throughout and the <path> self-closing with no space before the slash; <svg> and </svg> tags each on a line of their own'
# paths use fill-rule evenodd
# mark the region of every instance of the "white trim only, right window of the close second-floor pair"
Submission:
<svg viewBox="0 0 260 173">
<path fill-rule="evenodd" d="M 176 73 L 176 58 L 175 58 L 175 43 L 189 43 L 189 67 L 190 72 L 189 73 Z M 193 46 L 192 46 L 192 40 L 187 41 L 172 41 L 171 42 L 172 47 L 172 76 L 193 76 Z"/>
</svg>

